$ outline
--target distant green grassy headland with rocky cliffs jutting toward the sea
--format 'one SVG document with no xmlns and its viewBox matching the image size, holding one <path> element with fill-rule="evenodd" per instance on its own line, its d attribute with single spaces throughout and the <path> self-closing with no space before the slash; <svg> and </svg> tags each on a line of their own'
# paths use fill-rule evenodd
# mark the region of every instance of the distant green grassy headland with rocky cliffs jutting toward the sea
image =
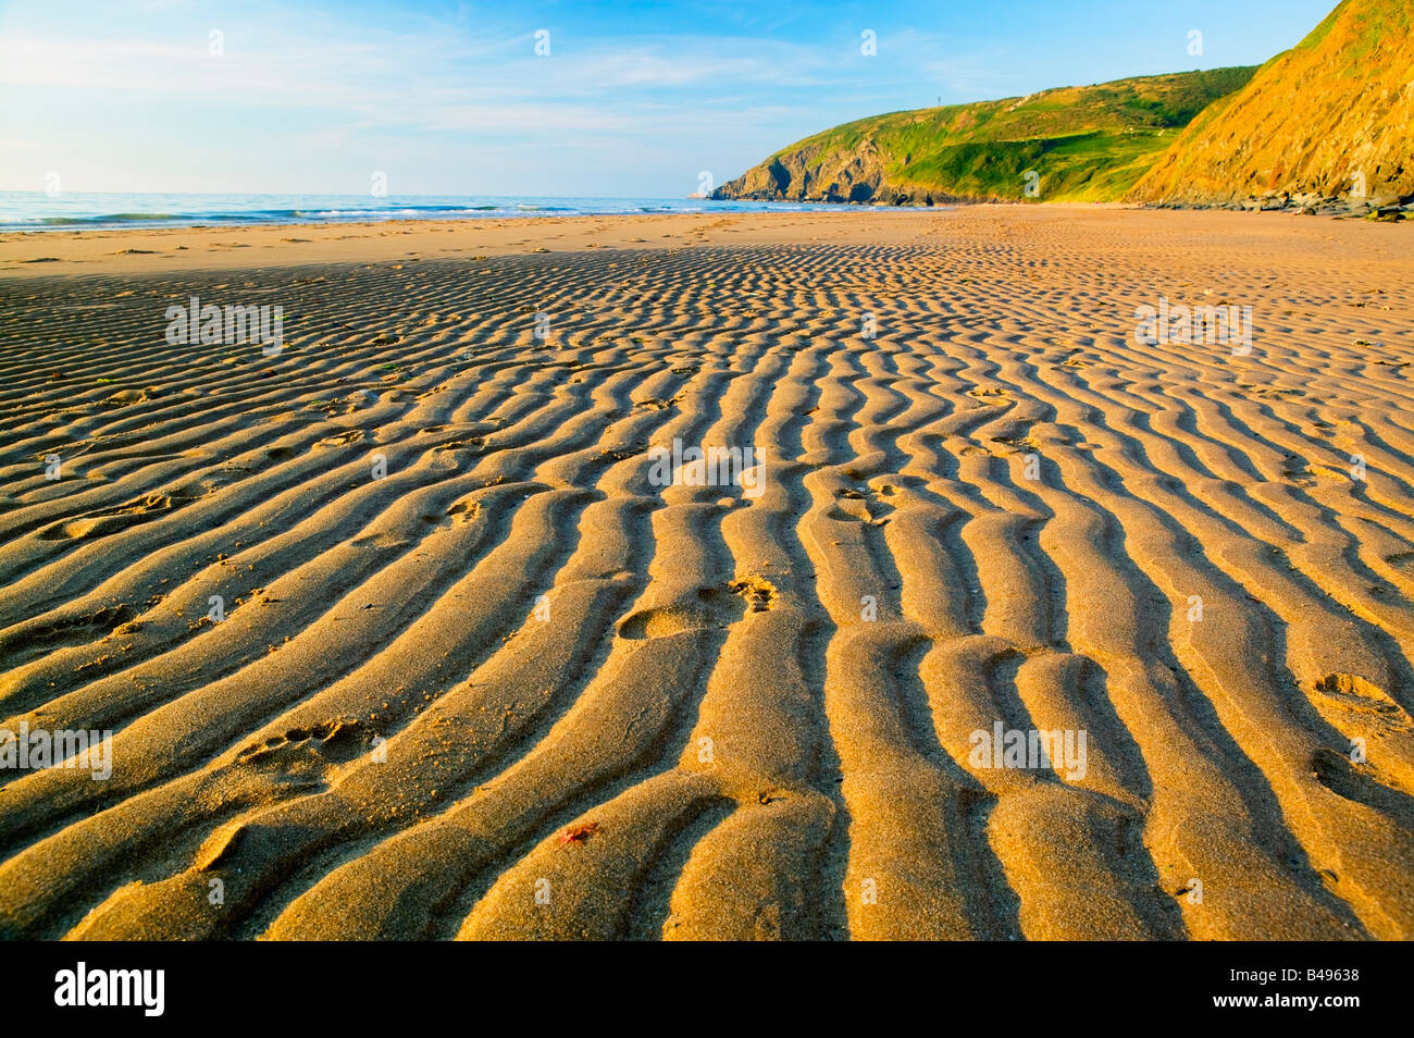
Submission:
<svg viewBox="0 0 1414 1038">
<path fill-rule="evenodd" d="M 713 198 L 1113 201 L 1178 130 L 1253 72 L 1140 76 L 860 119 L 778 151 Z"/>
</svg>

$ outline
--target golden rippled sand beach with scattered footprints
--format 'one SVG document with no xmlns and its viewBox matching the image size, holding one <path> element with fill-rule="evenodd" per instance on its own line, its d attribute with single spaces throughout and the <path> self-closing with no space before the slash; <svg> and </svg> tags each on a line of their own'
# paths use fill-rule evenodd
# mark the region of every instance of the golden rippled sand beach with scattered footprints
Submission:
<svg viewBox="0 0 1414 1038">
<path fill-rule="evenodd" d="M 1411 938 L 1410 243 L 11 235 L 0 728 L 116 734 L 107 781 L 0 772 L 0 933 Z M 191 294 L 283 354 L 168 345 Z M 1159 296 L 1251 354 L 1135 345 Z M 761 495 L 652 485 L 674 437 Z M 978 766 L 998 721 L 1085 774 Z"/>
</svg>

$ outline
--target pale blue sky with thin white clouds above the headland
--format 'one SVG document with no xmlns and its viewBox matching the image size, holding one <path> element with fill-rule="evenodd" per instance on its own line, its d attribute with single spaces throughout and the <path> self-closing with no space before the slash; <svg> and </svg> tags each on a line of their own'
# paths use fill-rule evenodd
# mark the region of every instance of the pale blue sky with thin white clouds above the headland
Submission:
<svg viewBox="0 0 1414 1038">
<path fill-rule="evenodd" d="M 939 98 L 1260 64 L 1333 6 L 0 0 L 0 189 L 684 197 Z"/>
</svg>

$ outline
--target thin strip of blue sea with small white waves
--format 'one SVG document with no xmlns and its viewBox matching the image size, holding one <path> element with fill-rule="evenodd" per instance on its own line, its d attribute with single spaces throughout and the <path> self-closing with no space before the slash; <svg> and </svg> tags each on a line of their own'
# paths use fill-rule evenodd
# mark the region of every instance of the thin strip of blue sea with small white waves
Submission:
<svg viewBox="0 0 1414 1038">
<path fill-rule="evenodd" d="M 638 212 L 814 212 L 826 202 L 496 195 L 215 195 L 0 191 L 0 231 L 354 223 L 383 219 L 574 216 Z M 891 206 L 872 206 L 891 208 Z"/>
</svg>

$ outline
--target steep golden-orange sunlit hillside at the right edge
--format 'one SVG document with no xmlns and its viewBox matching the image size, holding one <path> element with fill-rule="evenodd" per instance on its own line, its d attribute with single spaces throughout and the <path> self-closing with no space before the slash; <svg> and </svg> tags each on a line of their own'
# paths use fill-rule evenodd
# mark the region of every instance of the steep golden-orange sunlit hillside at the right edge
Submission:
<svg viewBox="0 0 1414 1038">
<path fill-rule="evenodd" d="M 1345 0 L 1205 110 L 1131 201 L 1267 205 L 1414 195 L 1414 3 Z"/>
</svg>

